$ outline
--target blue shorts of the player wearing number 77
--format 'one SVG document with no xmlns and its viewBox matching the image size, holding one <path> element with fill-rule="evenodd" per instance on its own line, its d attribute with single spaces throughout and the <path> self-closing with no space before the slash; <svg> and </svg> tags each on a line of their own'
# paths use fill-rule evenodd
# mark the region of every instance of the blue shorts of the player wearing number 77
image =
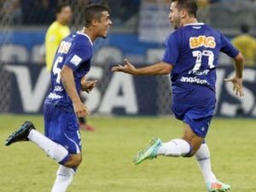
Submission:
<svg viewBox="0 0 256 192">
<path fill-rule="evenodd" d="M 215 93 L 209 89 L 183 90 L 172 95 L 172 112 L 188 124 L 199 137 L 206 137 L 214 113 Z"/>
</svg>

